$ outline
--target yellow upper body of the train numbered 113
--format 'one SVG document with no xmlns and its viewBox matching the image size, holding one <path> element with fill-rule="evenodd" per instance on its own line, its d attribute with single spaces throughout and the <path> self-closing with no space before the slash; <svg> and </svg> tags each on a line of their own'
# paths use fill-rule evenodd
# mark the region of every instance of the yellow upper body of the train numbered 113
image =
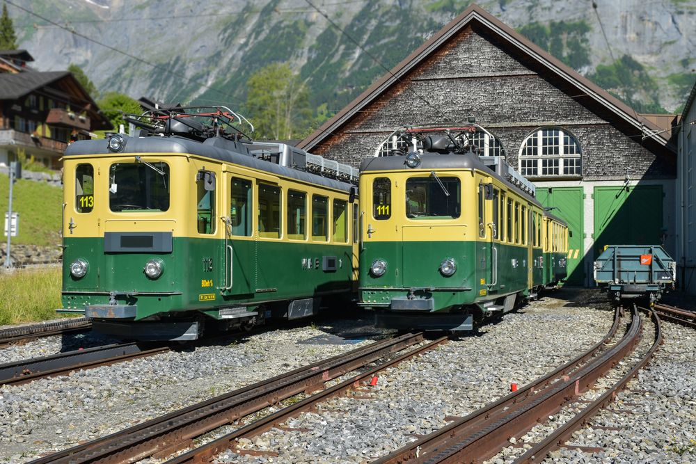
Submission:
<svg viewBox="0 0 696 464">
<path fill-rule="evenodd" d="M 139 157 L 136 161 L 135 157 Z M 110 204 L 109 191 L 123 191 L 128 186 L 119 184 L 119 179 L 113 175 L 113 166 L 117 163 L 143 163 L 155 168 L 168 170 L 168 205 L 162 202 L 162 210 L 136 209 L 137 205 L 120 205 L 132 208 L 114 210 Z M 251 199 L 257 202 L 261 189 L 271 187 L 280 192 L 278 205 L 274 205 L 274 213 L 280 217 L 278 232 L 269 234 L 259 232 L 260 214 L 258 203 L 254 203 L 254 214 L 250 214 L 251 227 L 248 233 L 236 236 L 235 239 L 269 239 L 275 241 L 313 241 L 316 243 L 347 243 L 350 242 L 352 217 L 350 209 L 343 209 L 347 202 L 348 193 L 326 186 L 303 182 L 299 179 L 280 177 L 267 171 L 238 166 L 223 161 L 180 153 L 137 153 L 137 154 L 95 154 L 94 156 L 66 156 L 63 159 L 63 236 L 64 237 L 103 237 L 104 232 L 172 232 L 173 237 L 197 237 L 203 239 L 224 239 L 226 224 L 232 214 L 232 198 L 230 195 L 233 179 L 248 182 Z M 149 168 L 149 167 L 148 167 Z M 86 169 L 89 169 L 87 171 Z M 207 205 L 210 223 L 207 227 L 200 226 L 200 170 L 214 173 L 215 189 L 212 207 Z M 88 184 L 82 177 L 90 173 Z M 156 172 L 156 171 L 155 171 Z M 80 177 L 78 179 L 78 177 Z M 115 180 L 115 182 L 113 182 Z M 113 184 L 116 184 L 114 186 Z M 312 234 L 287 233 L 287 198 L 288 191 L 301 192 L 306 195 L 306 218 L 312 218 L 312 198 L 325 198 L 326 209 L 322 214 L 326 217 L 326 233 L 322 237 Z M 137 202 L 137 199 L 133 201 Z M 164 205 L 164 206 L 163 206 Z M 280 214 L 278 211 L 280 209 Z M 336 211 L 334 211 L 334 209 Z M 335 219 L 335 227 L 329 227 L 329 218 L 334 212 L 342 214 Z M 307 219 L 308 220 L 308 219 Z M 345 229 L 344 229 L 345 227 Z M 346 232 L 347 230 L 347 232 Z"/>
</svg>

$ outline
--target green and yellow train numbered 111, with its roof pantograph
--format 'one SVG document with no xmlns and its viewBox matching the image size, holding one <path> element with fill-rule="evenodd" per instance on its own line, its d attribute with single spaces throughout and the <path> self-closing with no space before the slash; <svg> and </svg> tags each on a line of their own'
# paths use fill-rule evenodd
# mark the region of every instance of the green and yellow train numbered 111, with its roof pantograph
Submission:
<svg viewBox="0 0 696 464">
<path fill-rule="evenodd" d="M 413 151 L 361 165 L 359 304 L 377 326 L 471 330 L 566 277 L 567 225 L 470 130 L 404 129 Z"/>
</svg>

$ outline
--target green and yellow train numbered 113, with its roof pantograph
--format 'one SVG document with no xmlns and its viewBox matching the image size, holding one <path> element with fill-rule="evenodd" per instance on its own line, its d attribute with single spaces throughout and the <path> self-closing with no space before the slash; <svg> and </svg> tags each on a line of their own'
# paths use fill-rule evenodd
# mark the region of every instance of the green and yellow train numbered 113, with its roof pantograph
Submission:
<svg viewBox="0 0 696 464">
<path fill-rule="evenodd" d="M 133 136 L 68 147 L 63 311 L 118 337 L 191 340 L 351 296 L 357 170 L 252 143 L 236 116 L 154 111 Z"/>
</svg>

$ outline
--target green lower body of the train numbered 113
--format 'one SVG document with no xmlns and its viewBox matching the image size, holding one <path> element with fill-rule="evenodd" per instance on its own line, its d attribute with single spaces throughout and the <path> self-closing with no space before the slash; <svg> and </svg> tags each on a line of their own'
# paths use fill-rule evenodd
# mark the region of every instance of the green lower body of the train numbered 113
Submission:
<svg viewBox="0 0 696 464">
<path fill-rule="evenodd" d="M 351 291 L 349 244 L 175 237 L 170 253 L 105 253 L 101 238 L 66 237 L 63 245 L 63 307 L 89 309 L 100 319 L 205 314 L 224 320 L 256 314 L 266 303 Z M 70 274 L 78 258 L 88 263 L 79 279 Z M 144 268 L 155 258 L 164 270 L 151 279 Z"/>
</svg>

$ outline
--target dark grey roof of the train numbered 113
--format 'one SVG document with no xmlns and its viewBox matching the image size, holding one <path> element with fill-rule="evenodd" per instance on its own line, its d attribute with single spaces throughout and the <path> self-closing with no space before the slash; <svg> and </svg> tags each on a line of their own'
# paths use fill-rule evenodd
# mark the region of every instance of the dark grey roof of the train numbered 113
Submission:
<svg viewBox="0 0 696 464">
<path fill-rule="evenodd" d="M 123 156 L 131 153 L 177 153 L 193 154 L 200 157 L 215 159 L 226 163 L 237 164 L 246 168 L 258 169 L 282 177 L 290 177 L 301 182 L 325 186 L 329 189 L 349 191 L 353 186 L 347 182 L 330 179 L 304 170 L 288 168 L 280 164 L 259 159 L 251 147 L 254 145 L 241 141 L 230 141 L 226 138 L 211 137 L 203 142 L 181 136 L 147 136 L 131 137 L 119 134 L 124 141 L 124 147 L 118 152 L 109 150 L 107 140 L 77 141 L 71 143 L 65 150 L 65 157 L 89 157 L 95 154 L 110 154 Z"/>
</svg>

